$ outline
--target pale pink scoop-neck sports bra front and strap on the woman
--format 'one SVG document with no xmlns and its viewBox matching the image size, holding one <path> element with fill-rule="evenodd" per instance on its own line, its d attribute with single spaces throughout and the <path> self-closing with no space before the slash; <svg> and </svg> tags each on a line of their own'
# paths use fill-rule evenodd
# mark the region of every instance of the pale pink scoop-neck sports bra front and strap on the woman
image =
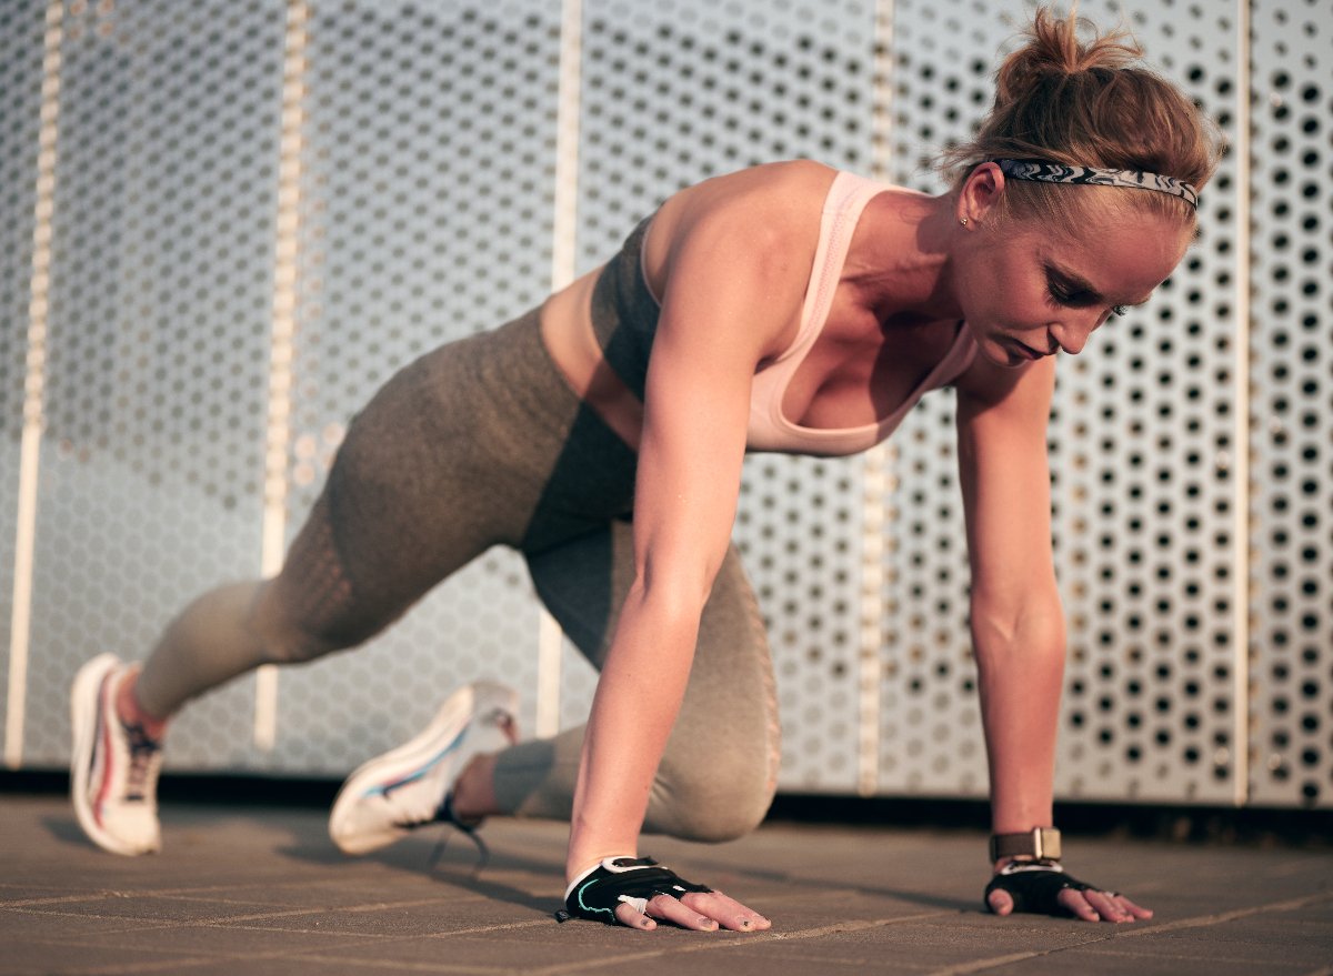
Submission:
<svg viewBox="0 0 1333 976">
<path fill-rule="evenodd" d="M 828 320 L 833 292 L 842 276 L 842 264 L 846 261 L 856 221 L 870 197 L 884 192 L 905 193 L 912 191 L 898 189 L 845 172 L 840 172 L 833 180 L 829 195 L 824 200 L 820 243 L 814 252 L 814 267 L 810 269 L 810 284 L 805 289 L 805 304 L 801 308 L 801 329 L 796 341 L 781 356 L 754 373 L 754 385 L 750 391 L 749 433 L 745 441 L 749 451 L 780 451 L 829 457 L 866 451 L 893 433 L 902 423 L 902 417 L 924 393 L 952 383 L 972 365 L 977 343 L 972 337 L 972 331 L 966 325 L 960 325 L 953 345 L 944 359 L 886 417 L 862 427 L 832 429 L 801 427 L 784 416 L 782 397 L 786 395 L 786 387 Z"/>
</svg>

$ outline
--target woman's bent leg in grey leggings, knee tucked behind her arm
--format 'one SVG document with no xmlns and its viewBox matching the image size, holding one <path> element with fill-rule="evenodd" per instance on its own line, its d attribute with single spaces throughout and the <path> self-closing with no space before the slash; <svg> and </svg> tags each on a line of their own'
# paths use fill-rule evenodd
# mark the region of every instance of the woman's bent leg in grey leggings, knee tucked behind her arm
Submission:
<svg viewBox="0 0 1333 976">
<path fill-rule="evenodd" d="M 529 556 L 537 592 L 597 668 L 633 580 L 632 531 L 613 521 Z M 495 764 L 499 807 L 565 819 L 573 805 L 583 728 L 524 743 Z M 725 748 L 712 743 L 722 741 Z M 773 799 L 781 760 L 777 701 L 764 624 L 736 548 L 728 552 L 700 621 L 685 700 L 666 743 L 644 828 L 692 840 L 753 829 Z"/>
</svg>

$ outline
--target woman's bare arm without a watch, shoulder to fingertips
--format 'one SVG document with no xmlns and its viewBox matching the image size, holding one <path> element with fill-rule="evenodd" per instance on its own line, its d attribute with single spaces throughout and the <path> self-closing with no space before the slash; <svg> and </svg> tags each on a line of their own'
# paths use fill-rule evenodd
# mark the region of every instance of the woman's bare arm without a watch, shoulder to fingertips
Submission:
<svg viewBox="0 0 1333 976">
<path fill-rule="evenodd" d="M 798 320 L 818 207 L 810 213 L 773 196 L 741 192 L 677 215 L 644 401 L 636 580 L 584 739 L 569 877 L 636 852 L 700 613 L 730 539 L 752 377 Z"/>
</svg>

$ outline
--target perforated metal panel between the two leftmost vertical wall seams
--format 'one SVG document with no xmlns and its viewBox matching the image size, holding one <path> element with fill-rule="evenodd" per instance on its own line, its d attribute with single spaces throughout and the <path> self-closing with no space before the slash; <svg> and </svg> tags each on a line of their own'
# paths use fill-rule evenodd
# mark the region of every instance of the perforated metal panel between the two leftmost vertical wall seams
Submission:
<svg viewBox="0 0 1333 976">
<path fill-rule="evenodd" d="M 64 19 L 33 764 L 68 753 L 79 664 L 141 657 L 187 599 L 257 568 L 281 24 L 276 3 Z M 209 696 L 171 761 L 233 761 L 248 712 L 244 689 Z"/>
</svg>

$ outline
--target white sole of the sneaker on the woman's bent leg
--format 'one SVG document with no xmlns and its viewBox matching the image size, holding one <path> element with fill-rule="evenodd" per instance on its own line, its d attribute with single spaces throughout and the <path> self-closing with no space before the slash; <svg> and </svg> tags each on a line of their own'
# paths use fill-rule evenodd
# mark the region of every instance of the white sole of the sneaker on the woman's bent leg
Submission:
<svg viewBox="0 0 1333 976">
<path fill-rule="evenodd" d="M 499 697 L 500 707 L 509 715 L 513 715 L 517 709 L 517 695 L 504 685 L 491 681 L 477 681 L 467 685 L 445 699 L 444 704 L 440 705 L 440 711 L 431 720 L 431 724 L 413 739 L 396 749 L 363 763 L 347 777 L 347 783 L 339 789 L 337 797 L 333 800 L 333 809 L 329 812 L 329 837 L 333 839 L 333 843 L 337 844 L 337 848 L 343 853 L 371 853 L 401 840 L 412 832 L 411 828 L 404 827 L 396 831 L 393 836 L 375 837 L 369 839 L 369 843 L 357 844 L 355 843 L 356 840 L 365 841 L 367 839 L 356 835 L 339 839 L 339 821 L 347 817 L 351 809 L 369 791 L 383 787 L 385 783 L 405 779 L 428 764 L 439 761 L 441 757 L 440 753 L 452 740 L 459 737 L 459 733 L 467 728 L 468 721 L 476 715 L 477 700 L 489 696 Z"/>
</svg>

